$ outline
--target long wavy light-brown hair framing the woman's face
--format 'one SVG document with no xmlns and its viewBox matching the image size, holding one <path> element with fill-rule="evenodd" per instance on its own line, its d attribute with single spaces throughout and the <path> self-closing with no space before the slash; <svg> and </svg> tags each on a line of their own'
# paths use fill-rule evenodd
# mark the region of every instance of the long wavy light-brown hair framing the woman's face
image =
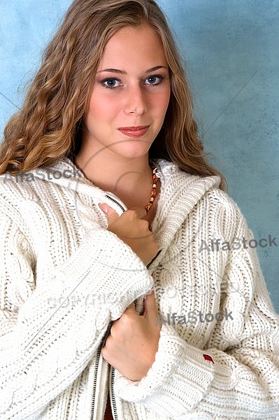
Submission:
<svg viewBox="0 0 279 420">
<path fill-rule="evenodd" d="M 0 146 L 0 174 L 28 172 L 73 159 L 103 50 L 117 29 L 147 22 L 162 40 L 171 99 L 150 158 L 165 158 L 200 176 L 223 176 L 208 162 L 193 117 L 182 62 L 164 13 L 153 0 L 75 0 L 43 55 L 22 109 L 8 121 Z"/>
</svg>

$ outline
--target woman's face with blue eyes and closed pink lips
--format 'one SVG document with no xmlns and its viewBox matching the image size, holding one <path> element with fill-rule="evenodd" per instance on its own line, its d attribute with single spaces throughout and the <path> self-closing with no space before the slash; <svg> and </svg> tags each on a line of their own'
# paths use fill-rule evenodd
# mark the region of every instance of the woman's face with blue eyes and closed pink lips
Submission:
<svg viewBox="0 0 279 420">
<path fill-rule="evenodd" d="M 164 122 L 170 93 L 169 66 L 156 32 L 147 24 L 119 29 L 96 72 L 83 144 L 92 153 L 104 148 L 123 158 L 146 156 Z"/>
</svg>

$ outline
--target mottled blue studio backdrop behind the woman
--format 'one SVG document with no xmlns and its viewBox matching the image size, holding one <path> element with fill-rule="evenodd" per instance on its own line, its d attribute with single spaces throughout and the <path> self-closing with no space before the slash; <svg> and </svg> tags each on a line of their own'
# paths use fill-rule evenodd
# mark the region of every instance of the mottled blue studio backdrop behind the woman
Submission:
<svg viewBox="0 0 279 420">
<path fill-rule="evenodd" d="M 1 137 L 70 3 L 1 0 Z M 257 253 L 279 312 L 279 1 L 158 3 L 186 59 L 206 151 L 213 152 L 212 162 L 226 176 L 255 239 L 277 238 L 277 247 Z"/>
</svg>

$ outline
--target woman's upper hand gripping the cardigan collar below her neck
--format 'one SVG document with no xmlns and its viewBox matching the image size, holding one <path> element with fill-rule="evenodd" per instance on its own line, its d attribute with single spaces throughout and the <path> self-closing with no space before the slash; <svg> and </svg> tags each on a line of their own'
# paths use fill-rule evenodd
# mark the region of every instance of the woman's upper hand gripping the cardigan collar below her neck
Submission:
<svg viewBox="0 0 279 420">
<path fill-rule="evenodd" d="M 118 216 L 108 204 L 99 204 L 108 218 L 108 230 L 122 239 L 138 255 L 145 265 L 157 255 L 158 245 L 149 229 L 148 221 L 143 220 L 145 209 L 134 207 Z"/>
</svg>

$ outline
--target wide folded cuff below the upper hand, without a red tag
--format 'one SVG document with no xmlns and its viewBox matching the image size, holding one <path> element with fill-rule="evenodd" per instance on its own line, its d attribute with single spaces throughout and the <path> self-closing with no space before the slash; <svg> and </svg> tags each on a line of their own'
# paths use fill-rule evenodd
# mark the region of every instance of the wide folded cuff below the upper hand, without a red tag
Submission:
<svg viewBox="0 0 279 420">
<path fill-rule="evenodd" d="M 106 229 L 91 230 L 55 274 L 68 295 L 74 292 L 85 304 L 108 308 L 112 320 L 153 285 L 138 255 Z"/>
</svg>

